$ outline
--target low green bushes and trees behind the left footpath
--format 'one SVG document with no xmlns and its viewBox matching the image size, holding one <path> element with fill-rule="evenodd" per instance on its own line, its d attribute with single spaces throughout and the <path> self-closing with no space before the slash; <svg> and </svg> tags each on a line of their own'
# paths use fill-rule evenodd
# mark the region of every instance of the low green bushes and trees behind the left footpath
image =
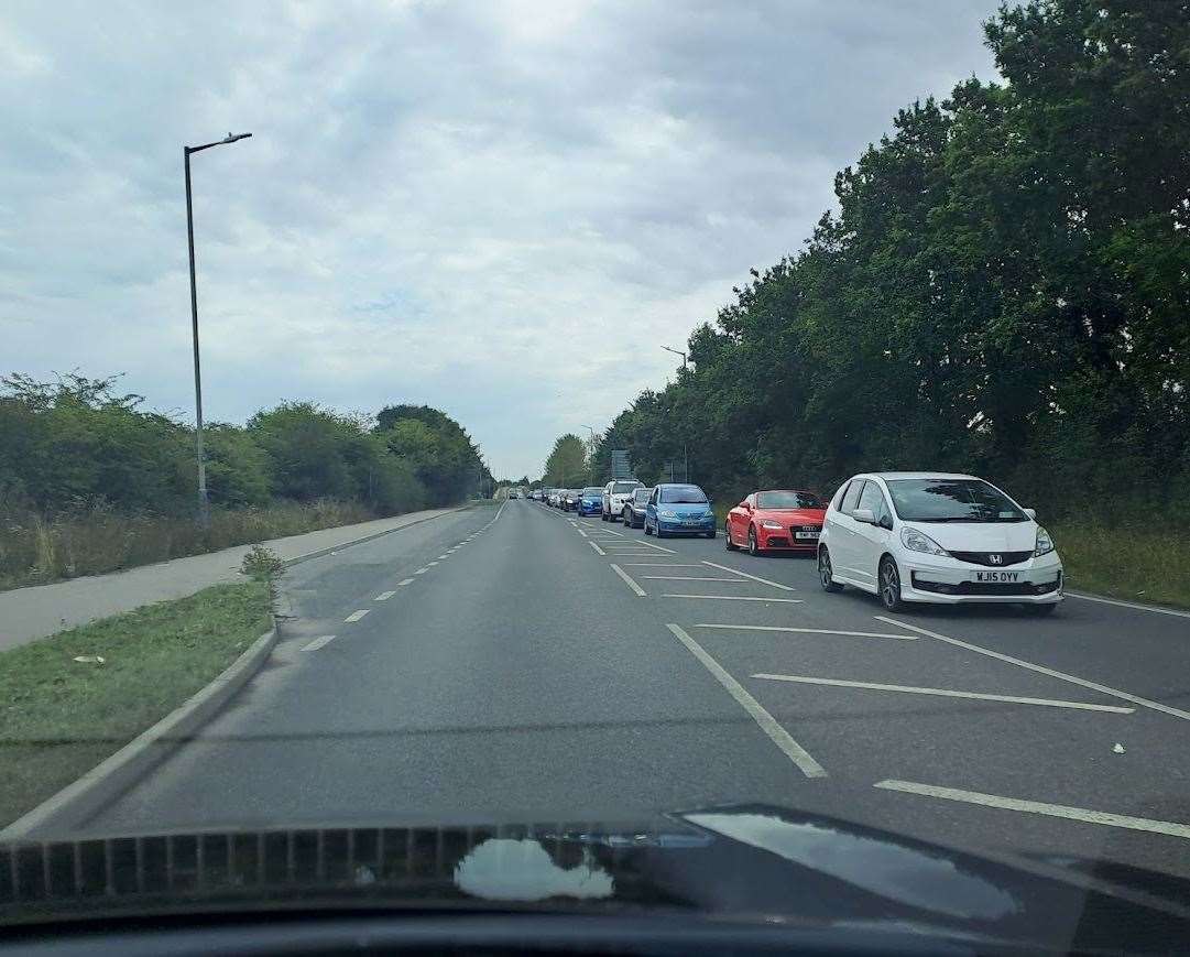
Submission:
<svg viewBox="0 0 1190 957">
<path fill-rule="evenodd" d="M 0 380 L 0 509 L 194 512 L 194 430 L 117 384 L 77 374 Z M 371 419 L 282 402 L 243 426 L 206 426 L 203 444 L 211 502 L 225 509 L 337 500 L 390 515 L 459 501 L 491 477 L 466 431 L 428 406 Z"/>
</svg>

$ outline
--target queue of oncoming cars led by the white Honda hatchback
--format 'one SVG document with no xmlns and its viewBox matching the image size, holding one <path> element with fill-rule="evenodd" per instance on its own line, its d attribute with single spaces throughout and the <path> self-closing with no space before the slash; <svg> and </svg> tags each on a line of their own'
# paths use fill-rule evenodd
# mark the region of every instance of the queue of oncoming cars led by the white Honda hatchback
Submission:
<svg viewBox="0 0 1190 957">
<path fill-rule="evenodd" d="M 690 483 L 618 480 L 545 489 L 543 500 L 658 538 L 718 533 L 709 499 Z M 973 475 L 864 473 L 828 500 L 804 489 L 753 492 L 728 511 L 722 532 L 728 551 L 815 556 L 826 592 L 858 588 L 889 611 L 1009 602 L 1048 614 L 1063 598 L 1061 559 L 1034 511 Z"/>
</svg>

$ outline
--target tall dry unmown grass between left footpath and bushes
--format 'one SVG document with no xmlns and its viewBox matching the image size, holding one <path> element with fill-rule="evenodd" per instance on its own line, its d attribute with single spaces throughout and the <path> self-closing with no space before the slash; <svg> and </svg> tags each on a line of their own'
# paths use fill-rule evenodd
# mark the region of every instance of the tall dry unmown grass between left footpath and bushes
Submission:
<svg viewBox="0 0 1190 957">
<path fill-rule="evenodd" d="M 106 506 L 52 520 L 36 512 L 2 512 L 0 589 L 102 575 L 374 518 L 358 502 L 331 499 L 215 508 L 207 530 L 199 528 L 190 515 L 125 515 Z"/>
</svg>

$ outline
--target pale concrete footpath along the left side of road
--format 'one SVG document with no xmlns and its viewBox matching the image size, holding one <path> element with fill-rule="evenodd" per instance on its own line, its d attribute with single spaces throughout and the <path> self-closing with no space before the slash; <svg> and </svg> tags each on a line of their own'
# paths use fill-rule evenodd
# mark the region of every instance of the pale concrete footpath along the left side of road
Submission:
<svg viewBox="0 0 1190 957">
<path fill-rule="evenodd" d="M 358 525 L 340 525 L 337 528 L 275 538 L 263 544 L 292 564 L 455 511 L 457 509 L 431 508 Z M 111 575 L 93 575 L 0 592 L 0 651 L 63 628 L 84 625 L 96 618 L 120 614 L 155 601 L 186 598 L 219 582 L 237 581 L 242 577 L 240 562 L 251 548 L 237 545 Z"/>
</svg>

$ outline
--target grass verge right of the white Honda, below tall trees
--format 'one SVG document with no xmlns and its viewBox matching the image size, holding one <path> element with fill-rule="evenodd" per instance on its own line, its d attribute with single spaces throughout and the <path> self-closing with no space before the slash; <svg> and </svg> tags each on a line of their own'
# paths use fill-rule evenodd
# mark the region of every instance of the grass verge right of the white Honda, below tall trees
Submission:
<svg viewBox="0 0 1190 957">
<path fill-rule="evenodd" d="M 1086 523 L 1046 527 L 1075 592 L 1190 608 L 1190 534 Z"/>
</svg>

